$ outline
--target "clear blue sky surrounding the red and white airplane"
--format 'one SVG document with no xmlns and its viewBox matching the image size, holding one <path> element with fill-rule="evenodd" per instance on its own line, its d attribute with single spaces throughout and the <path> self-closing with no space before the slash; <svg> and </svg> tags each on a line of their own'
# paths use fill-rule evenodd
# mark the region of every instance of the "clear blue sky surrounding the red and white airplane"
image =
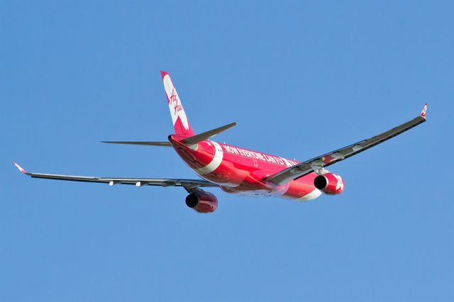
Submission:
<svg viewBox="0 0 454 302">
<path fill-rule="evenodd" d="M 218 3 L 214 3 L 218 2 Z M 1 301 L 453 301 L 452 1 L 4 1 Z M 330 167 L 309 203 L 23 177 L 194 174 L 167 148 L 160 70 L 195 131 L 297 160 L 417 116 Z"/>
</svg>

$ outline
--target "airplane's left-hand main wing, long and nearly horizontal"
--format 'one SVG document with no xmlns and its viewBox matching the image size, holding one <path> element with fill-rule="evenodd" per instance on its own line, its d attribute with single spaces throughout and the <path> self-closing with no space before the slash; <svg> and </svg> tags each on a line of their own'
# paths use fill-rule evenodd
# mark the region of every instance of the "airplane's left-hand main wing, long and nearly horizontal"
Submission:
<svg viewBox="0 0 454 302">
<path fill-rule="evenodd" d="M 26 174 L 34 178 L 43 179 L 57 179 L 67 181 L 84 181 L 84 182 L 100 182 L 114 186 L 116 184 L 134 184 L 135 186 L 183 186 L 184 189 L 190 190 L 197 187 L 218 187 L 217 184 L 213 184 L 204 179 L 153 179 L 153 178 L 118 178 L 118 177 L 84 177 L 74 175 L 59 175 L 59 174 L 41 174 L 41 173 L 30 173 L 23 169 L 18 164 L 14 165 L 23 174 Z"/>
</svg>

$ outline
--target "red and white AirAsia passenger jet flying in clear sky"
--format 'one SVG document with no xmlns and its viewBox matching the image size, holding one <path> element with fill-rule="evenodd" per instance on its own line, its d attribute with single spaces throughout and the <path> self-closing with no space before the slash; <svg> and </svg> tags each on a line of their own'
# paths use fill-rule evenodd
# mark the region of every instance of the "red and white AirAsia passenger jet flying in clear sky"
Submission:
<svg viewBox="0 0 454 302">
<path fill-rule="evenodd" d="M 109 186 L 117 184 L 131 184 L 137 187 L 182 186 L 189 194 L 185 199 L 189 208 L 199 213 L 212 213 L 218 208 L 218 199 L 202 188 L 219 188 L 228 194 L 240 196 L 275 196 L 294 201 L 310 201 L 321 196 L 322 193 L 341 194 L 345 189 L 343 178 L 329 172 L 325 169 L 326 167 L 394 138 L 426 121 L 427 104 L 424 104 L 421 114 L 411 121 L 372 138 L 298 162 L 211 140 L 215 135 L 235 126 L 236 123 L 195 134 L 184 113 L 182 102 L 170 75 L 162 71 L 161 76 L 175 133 L 167 137 L 167 142 L 104 141 L 104 143 L 173 147 L 189 169 L 201 177 L 200 179 L 41 174 L 27 172 L 18 164 L 14 164 L 23 174 L 41 179 L 97 182 L 109 184 Z"/>
</svg>

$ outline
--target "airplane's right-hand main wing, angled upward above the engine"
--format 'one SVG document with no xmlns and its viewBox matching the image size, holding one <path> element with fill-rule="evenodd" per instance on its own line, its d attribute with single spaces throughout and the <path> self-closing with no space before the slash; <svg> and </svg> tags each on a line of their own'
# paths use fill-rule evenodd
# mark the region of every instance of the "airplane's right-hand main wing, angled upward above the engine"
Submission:
<svg viewBox="0 0 454 302">
<path fill-rule="evenodd" d="M 311 160 L 306 160 L 306 162 L 296 164 L 270 177 L 267 177 L 266 180 L 272 181 L 275 184 L 286 184 L 291 180 L 298 179 L 299 177 L 304 177 L 304 175 L 307 175 L 313 171 L 317 172 L 319 170 L 322 170 L 324 167 L 330 166 L 331 164 L 341 162 L 341 160 L 345 160 L 350 156 L 357 155 L 358 153 L 365 151 L 370 147 L 374 147 L 381 142 L 384 142 L 385 140 L 394 138 L 394 136 L 416 127 L 420 123 L 424 123 L 426 121 L 426 110 L 427 104 L 424 105 L 421 114 L 411 121 L 403 123 L 402 125 L 398 125 L 397 127 L 392 128 L 391 130 L 388 130 L 379 135 L 375 135 L 372 138 L 367 138 L 367 140 L 361 140 L 360 142 L 348 145 L 347 147 L 343 147 L 341 149 L 328 152 L 319 157 L 314 157 Z"/>
</svg>

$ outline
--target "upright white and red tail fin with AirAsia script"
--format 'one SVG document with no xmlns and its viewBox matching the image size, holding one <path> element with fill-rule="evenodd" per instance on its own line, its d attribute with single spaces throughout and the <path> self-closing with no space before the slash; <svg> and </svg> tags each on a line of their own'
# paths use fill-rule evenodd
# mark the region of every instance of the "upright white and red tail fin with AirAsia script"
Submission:
<svg viewBox="0 0 454 302">
<path fill-rule="evenodd" d="M 167 72 L 161 71 L 161 76 L 165 94 L 167 95 L 167 102 L 169 103 L 170 116 L 172 116 L 175 134 L 193 136 L 194 131 L 192 131 L 191 125 L 189 125 L 182 102 L 179 100 L 177 89 L 173 86 L 170 75 Z"/>
</svg>

